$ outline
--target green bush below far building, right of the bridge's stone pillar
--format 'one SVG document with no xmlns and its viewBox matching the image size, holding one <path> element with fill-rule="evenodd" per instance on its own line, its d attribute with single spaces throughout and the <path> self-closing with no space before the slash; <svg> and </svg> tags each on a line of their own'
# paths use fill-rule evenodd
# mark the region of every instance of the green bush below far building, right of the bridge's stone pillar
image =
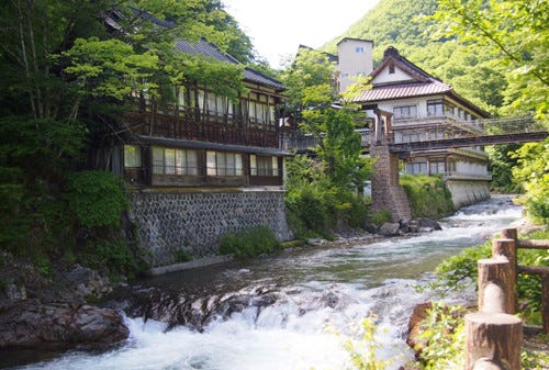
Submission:
<svg viewBox="0 0 549 370">
<path fill-rule="evenodd" d="M 439 177 L 401 175 L 400 183 L 413 217 L 438 218 L 456 211 L 451 193 Z"/>
</svg>

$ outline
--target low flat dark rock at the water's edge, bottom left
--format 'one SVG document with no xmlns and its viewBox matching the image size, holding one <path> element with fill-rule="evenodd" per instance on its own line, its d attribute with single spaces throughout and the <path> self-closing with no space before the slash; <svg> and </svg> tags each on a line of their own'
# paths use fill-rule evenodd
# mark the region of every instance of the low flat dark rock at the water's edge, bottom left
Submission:
<svg viewBox="0 0 549 370">
<path fill-rule="evenodd" d="M 0 349 L 111 345 L 128 333 L 123 317 L 110 309 L 38 300 L 3 301 L 0 306 Z"/>
</svg>

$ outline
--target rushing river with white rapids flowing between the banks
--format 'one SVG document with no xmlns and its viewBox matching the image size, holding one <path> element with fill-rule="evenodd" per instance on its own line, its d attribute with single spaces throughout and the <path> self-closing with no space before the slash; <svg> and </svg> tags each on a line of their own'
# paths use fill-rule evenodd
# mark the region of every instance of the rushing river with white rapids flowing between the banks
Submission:
<svg viewBox="0 0 549 370">
<path fill-rule="evenodd" d="M 104 352 L 69 351 L 18 369 L 324 370 L 345 369 L 345 338 L 371 316 L 380 358 L 397 369 L 413 306 L 427 300 L 415 285 L 442 258 L 492 237 L 520 217 L 508 197 L 459 211 L 442 231 L 346 247 L 295 248 L 277 256 L 175 272 L 141 282 L 203 294 L 201 304 L 247 296 L 239 310 L 203 321 L 200 329 L 127 317 L 131 338 Z M 232 307 L 235 307 L 232 301 Z M 226 307 L 225 307 L 226 309 Z M 219 313 L 219 312 L 217 312 Z"/>
</svg>

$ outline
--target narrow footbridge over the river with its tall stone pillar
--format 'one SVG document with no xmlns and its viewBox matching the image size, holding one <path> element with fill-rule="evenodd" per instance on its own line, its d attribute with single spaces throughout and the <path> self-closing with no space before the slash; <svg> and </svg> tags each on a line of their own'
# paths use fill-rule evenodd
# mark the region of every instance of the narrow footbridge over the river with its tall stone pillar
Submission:
<svg viewBox="0 0 549 370">
<path fill-rule="evenodd" d="M 416 119 L 414 135 L 410 135 L 405 134 L 412 132 L 405 124 L 391 125 L 391 115 L 379 115 L 373 127 L 358 132 L 362 135 L 365 153 L 378 158 L 371 178 L 372 208 L 389 210 L 393 221 L 408 221 L 412 215 L 406 194 L 399 183 L 399 159 L 437 149 L 541 142 L 548 136 L 547 127 L 531 116 L 475 121 Z M 288 144 L 287 149 L 306 153 L 314 152 L 314 146 L 320 143 L 316 137 L 304 135 Z"/>
</svg>

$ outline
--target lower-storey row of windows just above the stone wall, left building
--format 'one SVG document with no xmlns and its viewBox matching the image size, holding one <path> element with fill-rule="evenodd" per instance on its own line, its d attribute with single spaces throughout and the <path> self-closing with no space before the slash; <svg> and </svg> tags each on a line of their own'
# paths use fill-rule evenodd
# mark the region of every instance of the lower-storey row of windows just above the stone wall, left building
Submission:
<svg viewBox="0 0 549 370">
<path fill-rule="evenodd" d="M 199 150 L 175 149 L 153 146 L 153 173 L 176 176 L 199 176 Z M 124 167 L 142 167 L 139 146 L 124 145 Z M 205 173 L 208 176 L 244 176 L 243 154 L 206 150 Z M 272 156 L 249 156 L 251 176 L 279 176 L 278 158 Z"/>
</svg>

